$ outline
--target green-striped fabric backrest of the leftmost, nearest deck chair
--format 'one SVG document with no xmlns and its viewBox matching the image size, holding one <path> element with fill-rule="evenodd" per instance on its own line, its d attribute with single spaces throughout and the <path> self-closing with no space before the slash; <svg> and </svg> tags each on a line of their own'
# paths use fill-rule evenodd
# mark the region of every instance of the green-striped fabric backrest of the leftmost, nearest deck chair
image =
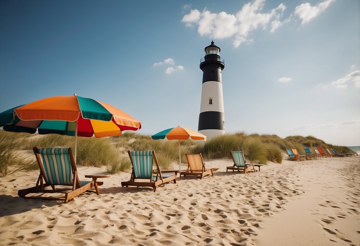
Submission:
<svg viewBox="0 0 360 246">
<path fill-rule="evenodd" d="M 52 185 L 72 185 L 72 174 L 76 170 L 75 163 L 70 161 L 68 148 L 34 148 L 35 155 L 41 158 L 38 164 L 46 181 Z M 36 153 L 37 152 L 37 153 Z M 72 158 L 73 160 L 73 158 Z"/>
</svg>

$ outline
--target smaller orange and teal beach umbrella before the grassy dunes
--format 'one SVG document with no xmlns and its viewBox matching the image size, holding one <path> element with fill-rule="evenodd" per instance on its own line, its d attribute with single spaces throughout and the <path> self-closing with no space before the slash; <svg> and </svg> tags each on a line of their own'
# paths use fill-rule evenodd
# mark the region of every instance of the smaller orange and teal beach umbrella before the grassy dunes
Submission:
<svg viewBox="0 0 360 246">
<path fill-rule="evenodd" d="M 189 128 L 184 128 L 184 127 L 174 127 L 174 128 L 169 128 L 166 129 L 162 132 L 156 133 L 153 136 L 151 136 L 152 139 L 168 139 L 168 140 L 172 140 L 172 139 L 177 139 L 179 140 L 179 170 L 181 170 L 181 155 L 180 155 L 180 140 L 186 140 L 186 139 L 193 139 L 193 140 L 204 140 L 206 141 L 206 136 L 194 131 L 192 129 Z"/>
</svg>

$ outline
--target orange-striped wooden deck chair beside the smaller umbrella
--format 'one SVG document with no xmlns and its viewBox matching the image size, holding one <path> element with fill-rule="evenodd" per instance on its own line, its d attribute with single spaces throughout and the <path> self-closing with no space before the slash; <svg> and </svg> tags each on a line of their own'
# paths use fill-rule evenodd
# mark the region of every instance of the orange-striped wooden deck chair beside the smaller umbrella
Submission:
<svg viewBox="0 0 360 246">
<path fill-rule="evenodd" d="M 214 176 L 214 167 L 206 168 L 205 162 L 200 154 L 185 154 L 188 159 L 188 170 L 180 172 L 180 175 L 202 179 L 206 175 Z"/>
</svg>

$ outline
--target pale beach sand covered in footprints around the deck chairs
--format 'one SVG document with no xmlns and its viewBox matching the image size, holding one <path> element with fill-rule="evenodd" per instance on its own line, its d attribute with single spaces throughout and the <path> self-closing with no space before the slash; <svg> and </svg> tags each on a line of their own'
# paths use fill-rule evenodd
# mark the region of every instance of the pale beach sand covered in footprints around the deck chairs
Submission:
<svg viewBox="0 0 360 246">
<path fill-rule="evenodd" d="M 360 245 L 360 156 L 284 159 L 247 174 L 209 160 L 214 177 L 155 193 L 121 187 L 122 172 L 66 204 L 17 197 L 38 171 L 17 172 L 0 178 L 0 245 Z"/>
</svg>

